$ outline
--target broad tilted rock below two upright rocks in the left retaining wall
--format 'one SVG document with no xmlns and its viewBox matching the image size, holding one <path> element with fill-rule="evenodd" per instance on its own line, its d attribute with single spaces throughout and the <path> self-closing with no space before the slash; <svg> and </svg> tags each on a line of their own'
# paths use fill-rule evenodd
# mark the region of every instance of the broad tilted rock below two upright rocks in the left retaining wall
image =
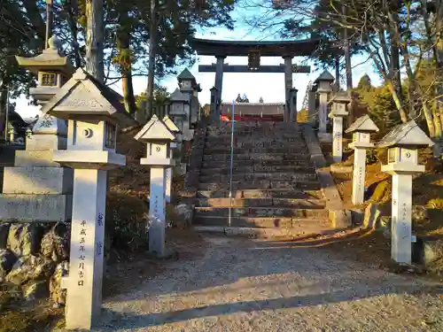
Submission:
<svg viewBox="0 0 443 332">
<path fill-rule="evenodd" d="M 31 280 L 49 279 L 54 272 L 55 263 L 42 256 L 27 255 L 19 258 L 6 275 L 6 281 L 22 285 Z"/>
</svg>

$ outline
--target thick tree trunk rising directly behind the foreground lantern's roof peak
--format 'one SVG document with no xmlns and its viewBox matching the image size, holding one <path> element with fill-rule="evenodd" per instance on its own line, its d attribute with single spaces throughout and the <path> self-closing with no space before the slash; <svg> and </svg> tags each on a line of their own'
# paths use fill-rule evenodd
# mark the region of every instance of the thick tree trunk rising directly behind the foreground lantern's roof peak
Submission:
<svg viewBox="0 0 443 332">
<path fill-rule="evenodd" d="M 86 0 L 86 71 L 103 82 L 103 0 Z"/>
</svg>

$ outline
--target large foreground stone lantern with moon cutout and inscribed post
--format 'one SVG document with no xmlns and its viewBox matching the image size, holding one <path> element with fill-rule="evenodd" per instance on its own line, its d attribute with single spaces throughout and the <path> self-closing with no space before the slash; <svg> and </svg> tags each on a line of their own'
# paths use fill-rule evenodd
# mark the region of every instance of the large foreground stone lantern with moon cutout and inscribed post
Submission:
<svg viewBox="0 0 443 332">
<path fill-rule="evenodd" d="M 66 328 L 90 329 L 102 304 L 107 170 L 126 165 L 115 152 L 117 127 L 135 125 L 120 97 L 78 69 L 43 113 L 68 121 L 67 149 L 54 161 L 74 168 Z"/>
</svg>

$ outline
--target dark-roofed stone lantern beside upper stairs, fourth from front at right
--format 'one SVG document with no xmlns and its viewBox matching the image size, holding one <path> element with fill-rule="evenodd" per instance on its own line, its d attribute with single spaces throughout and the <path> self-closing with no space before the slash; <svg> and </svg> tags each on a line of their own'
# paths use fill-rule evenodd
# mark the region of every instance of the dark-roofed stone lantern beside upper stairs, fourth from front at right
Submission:
<svg viewBox="0 0 443 332">
<path fill-rule="evenodd" d="M 328 123 L 328 97 L 332 91 L 330 84 L 335 81 L 334 76 L 327 70 L 320 74 L 315 80 L 319 99 L 318 106 L 318 138 L 322 142 L 330 142 L 330 135 L 327 133 Z"/>
</svg>

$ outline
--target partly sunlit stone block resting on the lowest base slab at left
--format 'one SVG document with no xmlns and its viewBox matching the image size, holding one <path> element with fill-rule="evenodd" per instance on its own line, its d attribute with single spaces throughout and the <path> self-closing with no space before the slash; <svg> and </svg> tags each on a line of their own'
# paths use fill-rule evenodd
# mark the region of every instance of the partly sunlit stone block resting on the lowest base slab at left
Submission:
<svg viewBox="0 0 443 332">
<path fill-rule="evenodd" d="M 4 194 L 69 194 L 74 171 L 65 167 L 4 167 Z"/>
</svg>

